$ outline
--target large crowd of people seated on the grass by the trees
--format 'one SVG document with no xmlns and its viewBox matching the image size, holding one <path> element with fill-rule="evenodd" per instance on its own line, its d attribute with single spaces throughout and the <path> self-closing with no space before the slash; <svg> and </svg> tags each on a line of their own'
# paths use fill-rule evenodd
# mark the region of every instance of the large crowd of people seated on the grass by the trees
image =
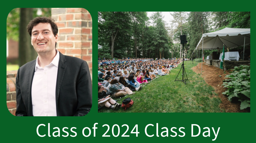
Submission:
<svg viewBox="0 0 256 143">
<path fill-rule="evenodd" d="M 139 91 L 141 84 L 158 78 L 157 75 L 168 75 L 170 70 L 178 67 L 181 62 L 182 59 L 154 60 L 153 58 L 99 60 L 98 85 L 103 85 L 102 87 L 105 89 L 101 90 L 102 87 L 99 86 L 98 92 L 100 95 L 106 92 L 108 97 L 135 94 L 132 91 Z M 98 102 L 103 99 L 102 96 L 100 97 Z M 107 96 L 104 96 L 104 99 L 106 98 Z M 109 104 L 104 103 L 105 106 L 107 105 L 106 107 L 110 107 L 111 109 L 115 109 L 116 104 L 118 103 L 114 103 L 113 101 L 109 101 Z M 98 104 L 99 107 L 104 105 L 103 103 Z"/>
</svg>

